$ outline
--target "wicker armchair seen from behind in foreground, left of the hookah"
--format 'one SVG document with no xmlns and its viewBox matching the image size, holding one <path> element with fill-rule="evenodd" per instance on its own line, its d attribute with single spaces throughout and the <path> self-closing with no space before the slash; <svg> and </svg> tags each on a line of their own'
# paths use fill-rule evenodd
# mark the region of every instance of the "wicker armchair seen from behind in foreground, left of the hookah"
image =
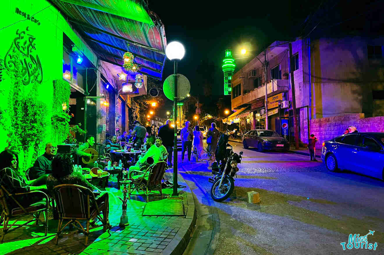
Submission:
<svg viewBox="0 0 384 255">
<path fill-rule="evenodd" d="M 65 227 L 69 224 L 76 227 L 79 232 L 84 233 L 85 245 L 88 245 L 89 230 L 99 227 L 89 227 L 91 220 L 97 217 L 102 222 L 103 232 L 111 227 L 108 219 L 108 193 L 105 193 L 99 199 L 96 199 L 93 192 L 88 188 L 73 184 L 57 185 L 53 188 L 53 193 L 55 194 L 59 212 L 56 244 L 58 244 L 61 232 L 63 232 Z M 103 213 L 103 218 L 100 216 L 101 212 Z M 68 222 L 63 226 L 64 220 L 68 220 Z M 86 229 L 81 226 L 79 220 L 86 220 Z"/>
</svg>

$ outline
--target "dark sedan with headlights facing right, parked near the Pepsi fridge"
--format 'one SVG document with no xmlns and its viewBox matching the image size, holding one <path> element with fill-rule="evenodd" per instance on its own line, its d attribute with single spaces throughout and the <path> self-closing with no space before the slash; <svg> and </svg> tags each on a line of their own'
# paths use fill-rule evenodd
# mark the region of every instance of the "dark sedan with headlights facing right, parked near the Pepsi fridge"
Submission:
<svg viewBox="0 0 384 255">
<path fill-rule="evenodd" d="M 289 142 L 278 133 L 267 129 L 254 129 L 243 135 L 243 147 L 255 147 L 258 151 L 289 150 Z"/>
</svg>

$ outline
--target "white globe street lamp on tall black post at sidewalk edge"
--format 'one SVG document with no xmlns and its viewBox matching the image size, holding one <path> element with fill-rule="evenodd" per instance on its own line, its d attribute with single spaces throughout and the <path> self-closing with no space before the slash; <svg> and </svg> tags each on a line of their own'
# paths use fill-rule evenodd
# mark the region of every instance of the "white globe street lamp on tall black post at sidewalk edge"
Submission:
<svg viewBox="0 0 384 255">
<path fill-rule="evenodd" d="M 166 47 L 166 56 L 173 61 L 173 75 L 175 77 L 174 84 L 174 116 L 177 116 L 177 61 L 184 57 L 184 46 L 176 41 L 169 43 Z M 174 126 L 174 146 L 173 146 L 173 193 L 172 196 L 177 196 L 177 122 Z"/>
</svg>

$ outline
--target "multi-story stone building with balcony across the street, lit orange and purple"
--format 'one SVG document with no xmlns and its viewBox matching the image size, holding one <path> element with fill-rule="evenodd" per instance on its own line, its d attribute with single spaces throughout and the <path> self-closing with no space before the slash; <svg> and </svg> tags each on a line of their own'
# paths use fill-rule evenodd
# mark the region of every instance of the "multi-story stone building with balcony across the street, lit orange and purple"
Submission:
<svg viewBox="0 0 384 255">
<path fill-rule="evenodd" d="M 296 39 L 292 58 L 288 43 L 276 41 L 266 50 L 268 129 L 280 132 L 280 119 L 289 120 L 293 139 L 290 69 L 295 83 L 300 140 L 306 143 L 310 120 L 349 113 L 384 115 L 384 37 Z M 264 52 L 233 75 L 229 118 L 246 129 L 265 126 Z M 309 118 L 308 118 L 309 115 Z M 242 130 L 246 131 L 246 130 Z"/>
</svg>

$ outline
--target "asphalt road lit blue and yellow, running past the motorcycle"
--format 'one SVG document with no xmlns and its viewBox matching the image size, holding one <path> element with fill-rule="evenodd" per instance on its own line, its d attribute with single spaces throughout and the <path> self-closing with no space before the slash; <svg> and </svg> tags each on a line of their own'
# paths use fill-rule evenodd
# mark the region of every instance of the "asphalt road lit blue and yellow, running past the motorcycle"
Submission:
<svg viewBox="0 0 384 255">
<path fill-rule="evenodd" d="M 352 172 L 328 172 L 309 156 L 243 150 L 235 190 L 226 201 L 210 198 L 203 163 L 179 171 L 195 194 L 197 226 L 184 254 L 384 254 L 384 182 Z M 248 191 L 260 193 L 249 204 Z M 376 250 L 352 248 L 349 234 L 368 235 Z"/>
</svg>

